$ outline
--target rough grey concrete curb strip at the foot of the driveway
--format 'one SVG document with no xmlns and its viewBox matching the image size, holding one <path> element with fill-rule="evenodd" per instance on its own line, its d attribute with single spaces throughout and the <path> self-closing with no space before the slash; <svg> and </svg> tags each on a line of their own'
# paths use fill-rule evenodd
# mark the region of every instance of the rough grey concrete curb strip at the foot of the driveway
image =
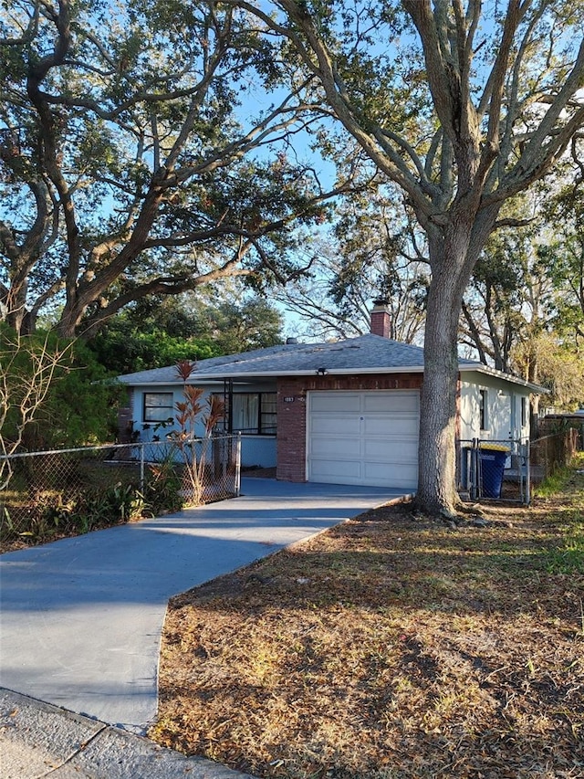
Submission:
<svg viewBox="0 0 584 779">
<path fill-rule="evenodd" d="M 255 779 L 0 688 L 3 779 Z"/>
</svg>

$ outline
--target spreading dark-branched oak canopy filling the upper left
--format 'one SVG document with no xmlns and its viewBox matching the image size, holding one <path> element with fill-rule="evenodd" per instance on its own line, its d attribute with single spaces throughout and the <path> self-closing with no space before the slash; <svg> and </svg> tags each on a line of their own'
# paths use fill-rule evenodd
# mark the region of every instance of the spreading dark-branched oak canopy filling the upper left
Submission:
<svg viewBox="0 0 584 779">
<path fill-rule="evenodd" d="M 297 88 L 245 10 L 16 0 L 0 53 L 0 304 L 17 330 L 51 302 L 72 336 L 149 295 L 300 270 L 291 224 L 326 218 L 330 193 L 287 154 Z"/>
</svg>

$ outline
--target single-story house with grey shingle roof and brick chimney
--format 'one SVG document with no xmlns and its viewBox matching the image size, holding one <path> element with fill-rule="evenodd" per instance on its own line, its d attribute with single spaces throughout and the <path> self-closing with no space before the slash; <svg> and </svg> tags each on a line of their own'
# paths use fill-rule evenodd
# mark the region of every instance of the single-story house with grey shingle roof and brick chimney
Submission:
<svg viewBox="0 0 584 779">
<path fill-rule="evenodd" d="M 276 478 L 415 489 L 423 351 L 392 341 L 382 301 L 370 333 L 346 341 L 286 344 L 196 363 L 189 384 L 221 395 L 225 429 L 242 433 L 242 465 Z M 176 367 L 120 376 L 134 435 L 161 435 L 181 400 Z M 529 436 L 530 393 L 541 387 L 482 363 L 459 363 L 457 437 Z M 163 433 L 162 433 L 163 435 Z"/>
</svg>

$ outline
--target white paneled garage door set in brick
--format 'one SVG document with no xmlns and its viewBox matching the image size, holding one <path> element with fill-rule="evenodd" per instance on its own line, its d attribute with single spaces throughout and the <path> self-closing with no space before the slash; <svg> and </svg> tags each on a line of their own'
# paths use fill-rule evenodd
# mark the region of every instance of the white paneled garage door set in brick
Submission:
<svg viewBox="0 0 584 779">
<path fill-rule="evenodd" d="M 308 393 L 308 481 L 414 490 L 420 394 Z"/>
</svg>

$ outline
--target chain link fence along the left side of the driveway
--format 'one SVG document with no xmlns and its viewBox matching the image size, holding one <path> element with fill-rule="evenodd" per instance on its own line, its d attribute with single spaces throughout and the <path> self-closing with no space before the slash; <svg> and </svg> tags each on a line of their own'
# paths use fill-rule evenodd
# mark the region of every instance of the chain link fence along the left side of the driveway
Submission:
<svg viewBox="0 0 584 779">
<path fill-rule="evenodd" d="M 240 462 L 239 436 L 0 457 L 0 551 L 235 497 Z"/>
</svg>

